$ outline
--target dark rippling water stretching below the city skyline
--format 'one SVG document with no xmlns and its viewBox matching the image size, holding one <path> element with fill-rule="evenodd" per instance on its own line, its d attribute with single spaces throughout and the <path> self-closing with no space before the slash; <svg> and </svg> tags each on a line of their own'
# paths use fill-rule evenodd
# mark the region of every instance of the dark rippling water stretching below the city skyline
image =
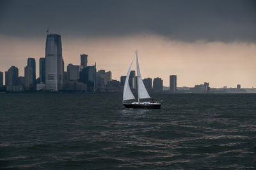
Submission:
<svg viewBox="0 0 256 170">
<path fill-rule="evenodd" d="M 163 94 L 129 110 L 122 94 L 0 94 L 0 168 L 256 167 L 255 94 Z"/>
</svg>

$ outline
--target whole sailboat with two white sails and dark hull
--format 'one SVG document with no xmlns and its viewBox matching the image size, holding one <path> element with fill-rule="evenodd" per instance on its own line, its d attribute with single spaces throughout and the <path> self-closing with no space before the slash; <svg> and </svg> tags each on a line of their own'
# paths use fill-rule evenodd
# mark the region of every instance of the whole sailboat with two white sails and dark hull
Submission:
<svg viewBox="0 0 256 170">
<path fill-rule="evenodd" d="M 150 99 L 151 97 L 148 95 L 147 89 L 142 81 L 140 74 L 140 66 L 138 62 L 138 51 L 136 53 L 136 64 L 137 64 L 137 92 L 138 92 L 138 101 L 136 102 L 127 102 L 132 99 L 135 99 L 134 95 L 129 86 L 129 77 L 132 69 L 132 64 L 134 59 L 132 60 L 131 66 L 128 69 L 127 76 L 125 78 L 124 83 L 124 93 L 123 93 L 123 104 L 125 108 L 161 108 L 161 102 L 152 101 L 140 101 L 140 99 Z"/>
</svg>

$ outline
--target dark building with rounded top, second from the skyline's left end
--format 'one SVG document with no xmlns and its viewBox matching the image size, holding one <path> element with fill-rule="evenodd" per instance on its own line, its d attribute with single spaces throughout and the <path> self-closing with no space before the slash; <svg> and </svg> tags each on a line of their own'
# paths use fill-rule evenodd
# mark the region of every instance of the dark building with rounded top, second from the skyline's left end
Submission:
<svg viewBox="0 0 256 170">
<path fill-rule="evenodd" d="M 6 87 L 19 85 L 19 69 L 17 67 L 12 66 L 8 71 L 5 71 L 5 85 Z"/>
</svg>

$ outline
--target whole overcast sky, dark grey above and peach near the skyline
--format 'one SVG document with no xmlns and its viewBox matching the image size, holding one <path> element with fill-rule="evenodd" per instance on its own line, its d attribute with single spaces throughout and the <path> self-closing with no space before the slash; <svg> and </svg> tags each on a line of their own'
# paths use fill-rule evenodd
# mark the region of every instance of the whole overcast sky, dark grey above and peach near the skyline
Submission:
<svg viewBox="0 0 256 170">
<path fill-rule="evenodd" d="M 0 71 L 17 66 L 23 75 L 28 57 L 35 57 L 36 62 L 44 57 L 50 20 L 50 32 L 61 34 L 66 65 L 78 64 L 79 53 L 88 53 L 90 62 L 99 62 L 97 69 L 111 70 L 113 78 L 119 80 L 121 74 L 126 74 L 134 48 L 140 47 L 141 62 L 147 57 L 152 59 L 148 66 L 155 64 L 154 68 L 158 68 L 170 63 L 163 70 L 148 67 L 144 71 L 148 76 L 164 78 L 164 85 L 168 85 L 168 75 L 175 73 L 179 86 L 209 81 L 216 87 L 235 87 L 236 83 L 256 87 L 256 71 L 251 68 L 256 64 L 256 1 L 0 0 Z M 203 48 L 207 50 L 202 52 Z M 150 53 L 157 56 L 154 58 Z M 124 60 L 119 60 L 120 57 Z M 217 62 L 214 57 L 223 60 Z M 209 66 L 205 59 L 212 59 Z M 191 66 L 189 60 L 196 63 Z M 223 64 L 220 71 L 218 67 Z M 189 71 L 184 72 L 181 68 L 186 66 Z M 203 72 L 198 70 L 205 66 Z M 186 81 L 186 74 L 190 78 L 191 73 L 193 80 Z M 218 76 L 209 77 L 209 73 Z"/>
</svg>

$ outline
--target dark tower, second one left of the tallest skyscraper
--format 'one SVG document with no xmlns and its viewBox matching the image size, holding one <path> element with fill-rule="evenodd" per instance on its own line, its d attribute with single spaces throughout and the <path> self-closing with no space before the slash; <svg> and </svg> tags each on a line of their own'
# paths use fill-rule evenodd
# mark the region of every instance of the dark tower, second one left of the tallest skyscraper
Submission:
<svg viewBox="0 0 256 170">
<path fill-rule="evenodd" d="M 29 91 L 36 90 L 36 60 L 28 58 L 28 65 L 24 69 L 25 89 Z"/>
</svg>

